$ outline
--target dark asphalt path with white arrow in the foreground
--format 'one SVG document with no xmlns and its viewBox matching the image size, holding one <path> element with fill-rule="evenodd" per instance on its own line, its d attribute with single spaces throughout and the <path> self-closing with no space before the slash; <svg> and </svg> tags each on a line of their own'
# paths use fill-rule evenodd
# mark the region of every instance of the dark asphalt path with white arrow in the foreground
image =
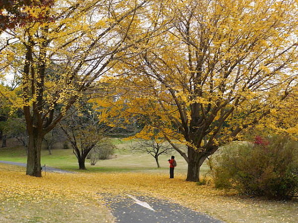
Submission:
<svg viewBox="0 0 298 223">
<path fill-rule="evenodd" d="M 223 223 L 167 200 L 130 194 L 101 195 L 118 223 Z"/>
</svg>

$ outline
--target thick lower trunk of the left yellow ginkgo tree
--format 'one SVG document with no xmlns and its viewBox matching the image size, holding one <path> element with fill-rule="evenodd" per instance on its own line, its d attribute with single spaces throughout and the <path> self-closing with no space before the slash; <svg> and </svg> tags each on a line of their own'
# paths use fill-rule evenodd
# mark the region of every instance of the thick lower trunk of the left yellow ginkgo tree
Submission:
<svg viewBox="0 0 298 223">
<path fill-rule="evenodd" d="M 41 176 L 40 151 L 42 136 L 38 133 L 29 135 L 28 156 L 27 156 L 27 175 Z"/>
</svg>

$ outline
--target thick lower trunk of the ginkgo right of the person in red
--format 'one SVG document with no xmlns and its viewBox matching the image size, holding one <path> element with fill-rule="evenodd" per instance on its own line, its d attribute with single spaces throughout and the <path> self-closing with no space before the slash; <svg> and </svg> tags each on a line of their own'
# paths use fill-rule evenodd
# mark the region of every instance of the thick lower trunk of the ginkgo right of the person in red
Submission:
<svg viewBox="0 0 298 223">
<path fill-rule="evenodd" d="M 188 169 L 186 181 L 200 181 L 200 167 L 206 160 L 207 156 L 202 152 L 196 152 L 191 147 L 188 147 Z"/>
</svg>

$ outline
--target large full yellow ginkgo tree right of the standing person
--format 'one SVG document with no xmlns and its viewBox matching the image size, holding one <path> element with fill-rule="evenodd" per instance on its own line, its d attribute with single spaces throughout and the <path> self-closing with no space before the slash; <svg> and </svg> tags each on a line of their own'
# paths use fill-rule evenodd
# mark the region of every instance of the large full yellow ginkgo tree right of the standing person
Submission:
<svg viewBox="0 0 298 223">
<path fill-rule="evenodd" d="M 297 91 L 298 2 L 185 0 L 168 11 L 168 31 L 118 67 L 118 94 L 102 115 L 158 128 L 187 161 L 186 180 L 198 181 L 208 156 Z"/>
</svg>

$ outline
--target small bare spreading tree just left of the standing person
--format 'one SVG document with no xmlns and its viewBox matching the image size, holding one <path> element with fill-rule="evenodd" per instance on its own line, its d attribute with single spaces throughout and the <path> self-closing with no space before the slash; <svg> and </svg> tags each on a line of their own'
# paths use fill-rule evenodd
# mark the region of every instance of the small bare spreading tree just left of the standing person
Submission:
<svg viewBox="0 0 298 223">
<path fill-rule="evenodd" d="M 131 146 L 132 150 L 143 151 L 154 157 L 157 167 L 159 168 L 158 157 L 163 154 L 169 154 L 174 151 L 174 148 L 165 140 L 156 140 L 151 138 L 149 140 L 140 139 L 137 143 Z"/>
</svg>

